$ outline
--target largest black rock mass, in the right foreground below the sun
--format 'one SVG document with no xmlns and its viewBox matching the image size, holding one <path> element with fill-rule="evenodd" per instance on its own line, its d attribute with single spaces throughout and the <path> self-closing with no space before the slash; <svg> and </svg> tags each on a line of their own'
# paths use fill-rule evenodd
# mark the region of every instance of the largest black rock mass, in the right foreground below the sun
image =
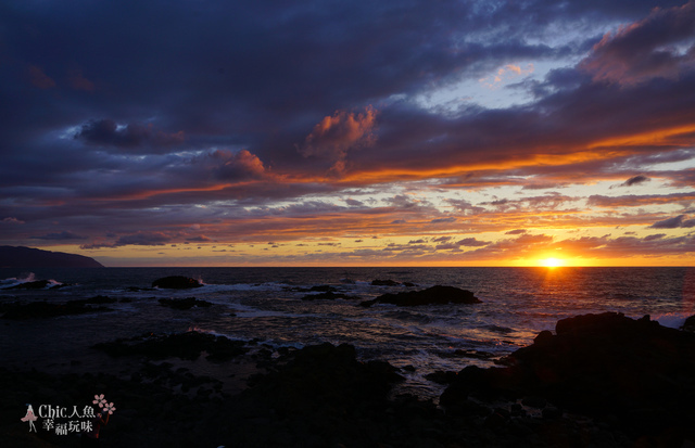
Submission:
<svg viewBox="0 0 695 448">
<path fill-rule="evenodd" d="M 559 409 L 615 422 L 633 436 L 675 433 L 695 439 L 695 335 L 664 328 L 648 316 L 563 319 L 555 335 L 541 333 L 505 364 L 467 367 L 440 404 L 460 406 L 469 396 L 541 397 Z M 556 418 L 560 412 L 545 413 Z"/>
</svg>

